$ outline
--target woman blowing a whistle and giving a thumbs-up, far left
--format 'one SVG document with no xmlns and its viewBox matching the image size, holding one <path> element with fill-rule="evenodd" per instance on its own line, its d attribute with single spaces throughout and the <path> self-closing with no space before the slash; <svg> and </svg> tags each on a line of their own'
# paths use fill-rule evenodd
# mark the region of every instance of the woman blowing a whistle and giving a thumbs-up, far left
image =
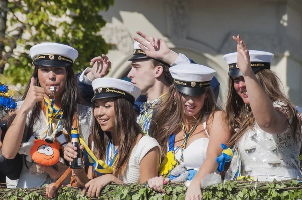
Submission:
<svg viewBox="0 0 302 200">
<path fill-rule="evenodd" d="M 17 103 L 17 112 L 10 118 L 12 124 L 8 126 L 2 147 L 2 153 L 7 159 L 14 158 L 17 152 L 27 155 L 27 159 L 23 160 L 17 185 L 22 188 L 42 187 L 55 182 L 68 166 L 63 160 L 54 166 L 28 162 L 33 144 L 26 143 L 24 149 L 20 150 L 21 142 L 25 144 L 35 137 L 45 139 L 46 135 L 53 138 L 56 130 L 61 130 L 68 136 L 76 113 L 79 133 L 88 141 L 92 112 L 91 108 L 77 104 L 79 94 L 72 69 L 78 56 L 77 50 L 63 44 L 42 43 L 30 49 L 30 56 L 34 64 L 32 78 L 26 87 L 23 101 Z M 29 169 L 37 170 L 37 173 L 30 172 Z M 67 179 L 66 183 L 68 182 L 70 178 Z"/>
</svg>

